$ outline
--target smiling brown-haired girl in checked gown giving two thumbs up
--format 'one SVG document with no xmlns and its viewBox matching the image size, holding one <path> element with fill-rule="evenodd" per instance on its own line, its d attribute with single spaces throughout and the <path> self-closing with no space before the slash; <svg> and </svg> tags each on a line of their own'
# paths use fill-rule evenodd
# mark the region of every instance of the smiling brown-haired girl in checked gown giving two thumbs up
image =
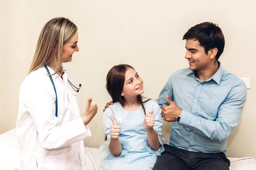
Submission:
<svg viewBox="0 0 256 170">
<path fill-rule="evenodd" d="M 107 141 L 99 148 L 101 169 L 152 169 L 166 142 L 159 105 L 141 96 L 143 80 L 130 65 L 111 68 L 106 88 L 114 104 L 103 116 Z"/>
</svg>

